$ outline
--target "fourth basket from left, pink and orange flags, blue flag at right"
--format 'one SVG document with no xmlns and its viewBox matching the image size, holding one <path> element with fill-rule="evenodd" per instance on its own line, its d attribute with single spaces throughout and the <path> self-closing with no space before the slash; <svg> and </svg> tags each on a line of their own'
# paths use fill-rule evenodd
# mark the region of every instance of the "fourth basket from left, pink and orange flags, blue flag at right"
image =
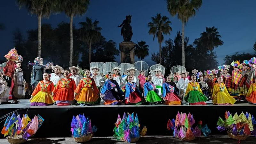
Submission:
<svg viewBox="0 0 256 144">
<path fill-rule="evenodd" d="M 207 124 L 202 127 L 202 121 L 199 121 L 197 126 L 193 128 L 195 124 L 195 119 L 193 114 L 180 113 L 178 112 L 175 119 L 168 121 L 167 129 L 173 130 L 173 136 L 180 140 L 194 140 L 196 137 L 200 137 L 202 133 L 207 136 L 211 133 Z"/>
</svg>

